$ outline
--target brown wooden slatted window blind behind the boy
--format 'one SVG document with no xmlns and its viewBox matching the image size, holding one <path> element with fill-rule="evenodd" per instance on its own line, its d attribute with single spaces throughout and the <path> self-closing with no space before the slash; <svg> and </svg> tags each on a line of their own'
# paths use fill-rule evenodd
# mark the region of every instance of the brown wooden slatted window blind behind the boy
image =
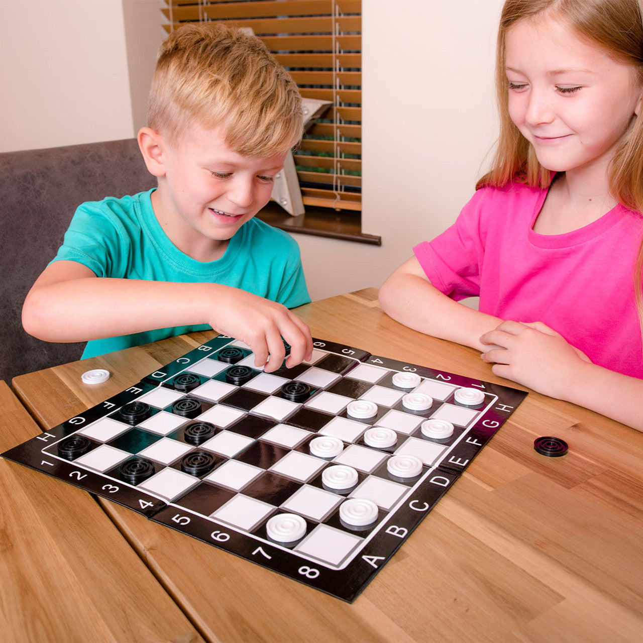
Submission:
<svg viewBox="0 0 643 643">
<path fill-rule="evenodd" d="M 361 0 L 165 0 L 186 22 L 249 27 L 304 98 L 331 102 L 294 154 L 304 206 L 361 211 Z"/>
</svg>

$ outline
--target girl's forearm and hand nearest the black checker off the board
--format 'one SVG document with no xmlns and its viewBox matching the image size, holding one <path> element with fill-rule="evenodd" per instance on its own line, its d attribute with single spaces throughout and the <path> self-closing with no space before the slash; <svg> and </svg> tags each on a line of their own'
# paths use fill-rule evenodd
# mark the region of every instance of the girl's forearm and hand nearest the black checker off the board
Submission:
<svg viewBox="0 0 643 643">
<path fill-rule="evenodd" d="M 494 374 L 643 431 L 643 380 L 592 364 L 545 324 L 504 321 L 480 340 Z"/>
</svg>

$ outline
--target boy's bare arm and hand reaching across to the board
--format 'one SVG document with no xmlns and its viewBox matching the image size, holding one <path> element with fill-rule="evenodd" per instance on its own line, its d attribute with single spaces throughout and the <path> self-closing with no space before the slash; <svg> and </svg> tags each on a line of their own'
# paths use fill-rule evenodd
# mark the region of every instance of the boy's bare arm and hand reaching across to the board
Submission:
<svg viewBox="0 0 643 643">
<path fill-rule="evenodd" d="M 280 303 L 221 284 L 97 278 L 86 266 L 57 261 L 33 284 L 23 306 L 26 332 L 46 341 L 87 341 L 158 328 L 209 324 L 248 344 L 255 364 L 284 359 L 288 367 L 312 354 L 309 328 Z"/>
</svg>

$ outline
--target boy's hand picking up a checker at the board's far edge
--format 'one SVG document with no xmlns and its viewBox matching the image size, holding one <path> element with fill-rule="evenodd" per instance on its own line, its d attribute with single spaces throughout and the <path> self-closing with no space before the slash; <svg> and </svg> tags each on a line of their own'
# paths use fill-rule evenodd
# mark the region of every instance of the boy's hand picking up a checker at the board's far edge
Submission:
<svg viewBox="0 0 643 643">
<path fill-rule="evenodd" d="M 238 288 L 218 286 L 214 307 L 216 311 L 211 309 L 208 319 L 212 328 L 248 344 L 255 354 L 255 366 L 265 365 L 267 373 L 280 368 L 284 361 L 282 337 L 291 347 L 285 362 L 288 368 L 311 359 L 311 331 L 284 305 Z"/>
</svg>

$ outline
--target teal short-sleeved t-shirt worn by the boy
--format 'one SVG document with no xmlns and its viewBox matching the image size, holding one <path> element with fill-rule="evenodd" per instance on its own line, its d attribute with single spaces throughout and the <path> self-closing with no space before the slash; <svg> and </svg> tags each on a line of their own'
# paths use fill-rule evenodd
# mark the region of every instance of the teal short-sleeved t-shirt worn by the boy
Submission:
<svg viewBox="0 0 643 643">
<path fill-rule="evenodd" d="M 220 259 L 197 261 L 176 248 L 161 228 L 152 210 L 152 192 L 83 203 L 53 261 L 76 261 L 98 277 L 228 285 L 288 308 L 310 302 L 299 246 L 290 235 L 250 219 L 230 239 Z M 201 324 L 92 340 L 82 356 L 207 329 Z"/>
</svg>

